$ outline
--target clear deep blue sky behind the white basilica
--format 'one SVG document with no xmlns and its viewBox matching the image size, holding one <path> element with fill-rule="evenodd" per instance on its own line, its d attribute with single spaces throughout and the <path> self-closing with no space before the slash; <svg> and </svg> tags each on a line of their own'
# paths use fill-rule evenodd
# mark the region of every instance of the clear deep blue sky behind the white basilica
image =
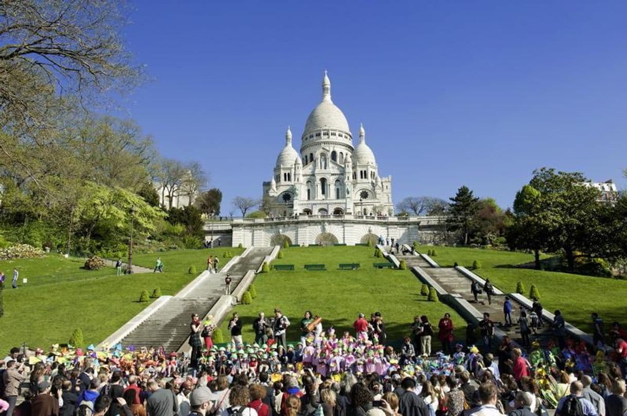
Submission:
<svg viewBox="0 0 627 416">
<path fill-rule="evenodd" d="M 393 198 L 461 185 L 511 206 L 540 166 L 624 187 L 627 3 L 134 0 L 154 81 L 128 106 L 161 153 L 261 197 L 288 124 L 300 148 L 324 69 Z"/>
</svg>

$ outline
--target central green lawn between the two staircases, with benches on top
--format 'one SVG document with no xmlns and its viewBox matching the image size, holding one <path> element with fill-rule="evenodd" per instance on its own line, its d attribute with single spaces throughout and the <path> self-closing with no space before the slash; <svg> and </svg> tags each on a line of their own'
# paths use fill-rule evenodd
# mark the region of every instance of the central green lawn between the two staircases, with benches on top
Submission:
<svg viewBox="0 0 627 416">
<path fill-rule="evenodd" d="M 359 312 L 379 311 L 386 322 L 388 339 L 398 341 L 409 333 L 414 315 L 427 315 L 437 326 L 445 312 L 451 313 L 458 337 L 463 336 L 465 322 L 443 303 L 427 302 L 419 294 L 421 284 L 409 270 L 380 270 L 372 263 L 386 260 L 374 257 L 374 248 L 357 246 L 290 247 L 283 249 L 284 258 L 273 264 L 293 264 L 295 271 L 262 273 L 255 280 L 258 297 L 251 305 L 238 305 L 235 310 L 243 320 L 243 336 L 252 342 L 253 320 L 263 311 L 272 316 L 280 307 L 290 318 L 288 340 L 300 338 L 300 319 L 305 310 L 320 315 L 324 328 L 333 325 L 336 332 L 351 330 Z M 303 265 L 325 263 L 327 271 L 305 271 Z M 339 263 L 360 263 L 359 270 L 337 270 Z M 223 322 L 225 338 L 227 322 Z M 435 339 L 435 345 L 438 340 Z"/>
</svg>

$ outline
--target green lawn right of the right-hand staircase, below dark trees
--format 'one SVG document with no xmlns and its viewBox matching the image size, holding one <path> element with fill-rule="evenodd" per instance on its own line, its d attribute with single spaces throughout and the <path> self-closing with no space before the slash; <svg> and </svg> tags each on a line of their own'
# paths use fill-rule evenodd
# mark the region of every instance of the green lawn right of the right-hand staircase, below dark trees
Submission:
<svg viewBox="0 0 627 416">
<path fill-rule="evenodd" d="M 627 325 L 624 314 L 624 298 L 627 297 L 627 281 L 574 275 L 556 271 L 541 271 L 529 268 L 512 268 L 520 263 L 534 260 L 531 254 L 512 251 L 485 250 L 480 248 L 453 248 L 421 246 L 421 252 L 435 250 L 433 260 L 441 266 L 470 267 L 474 260 L 482 264 L 475 273 L 489 277 L 503 292 L 515 292 L 516 283 L 524 282 L 529 288 L 535 285 L 540 292 L 540 302 L 550 312 L 560 309 L 566 320 L 579 329 L 591 332 L 590 314 L 598 312 L 609 327 L 613 321 Z"/>
</svg>

